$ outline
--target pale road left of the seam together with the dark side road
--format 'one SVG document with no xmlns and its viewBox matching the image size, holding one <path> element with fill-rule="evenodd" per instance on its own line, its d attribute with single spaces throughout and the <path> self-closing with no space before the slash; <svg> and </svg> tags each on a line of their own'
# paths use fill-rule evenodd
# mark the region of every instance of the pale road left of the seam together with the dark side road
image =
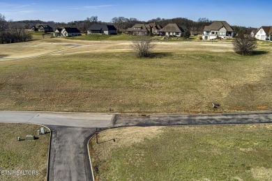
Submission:
<svg viewBox="0 0 272 181">
<path fill-rule="evenodd" d="M 96 127 L 108 127 L 107 113 L 0 111 L 0 123 L 38 123 L 50 127 L 49 180 L 92 180 L 87 143 Z"/>
</svg>

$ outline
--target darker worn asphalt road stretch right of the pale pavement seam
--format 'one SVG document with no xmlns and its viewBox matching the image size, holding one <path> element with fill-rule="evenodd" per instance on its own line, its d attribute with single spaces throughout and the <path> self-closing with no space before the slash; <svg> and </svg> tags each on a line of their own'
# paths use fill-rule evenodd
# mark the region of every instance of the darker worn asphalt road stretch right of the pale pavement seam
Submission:
<svg viewBox="0 0 272 181">
<path fill-rule="evenodd" d="M 116 114 L 111 127 L 123 126 L 163 126 L 163 125 L 218 125 L 272 123 L 271 112 L 218 113 L 181 115 L 122 115 Z"/>
</svg>

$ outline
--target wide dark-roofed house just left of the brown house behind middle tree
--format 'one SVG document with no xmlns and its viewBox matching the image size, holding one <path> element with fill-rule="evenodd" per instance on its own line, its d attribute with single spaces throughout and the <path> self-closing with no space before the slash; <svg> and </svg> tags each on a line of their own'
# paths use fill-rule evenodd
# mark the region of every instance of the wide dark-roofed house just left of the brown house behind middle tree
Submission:
<svg viewBox="0 0 272 181">
<path fill-rule="evenodd" d="M 106 34 L 116 35 L 117 29 L 114 25 L 109 24 L 93 24 L 87 31 L 88 34 Z"/>
</svg>

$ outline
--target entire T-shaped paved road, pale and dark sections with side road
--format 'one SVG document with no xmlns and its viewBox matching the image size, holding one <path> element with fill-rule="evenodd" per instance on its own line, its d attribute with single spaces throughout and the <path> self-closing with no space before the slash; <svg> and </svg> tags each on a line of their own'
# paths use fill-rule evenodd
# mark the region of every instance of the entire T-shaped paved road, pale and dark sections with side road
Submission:
<svg viewBox="0 0 272 181">
<path fill-rule="evenodd" d="M 87 151 L 89 136 L 96 127 L 153 125 L 215 125 L 272 123 L 272 112 L 115 115 L 107 113 L 47 113 L 0 111 L 0 123 L 38 123 L 50 127 L 49 180 L 92 180 Z"/>
</svg>

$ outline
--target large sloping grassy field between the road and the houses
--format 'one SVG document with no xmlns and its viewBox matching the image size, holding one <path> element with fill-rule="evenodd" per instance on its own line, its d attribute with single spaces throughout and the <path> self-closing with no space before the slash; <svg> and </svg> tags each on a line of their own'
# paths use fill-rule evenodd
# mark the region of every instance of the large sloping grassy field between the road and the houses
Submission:
<svg viewBox="0 0 272 181">
<path fill-rule="evenodd" d="M 0 45 L 10 57 L 27 56 L 25 45 L 73 47 L 0 61 L 0 110 L 206 113 L 211 102 L 216 112 L 272 110 L 269 42 L 254 56 L 225 42 L 156 42 L 153 58 L 137 58 L 128 41 L 53 39 Z"/>
</svg>

